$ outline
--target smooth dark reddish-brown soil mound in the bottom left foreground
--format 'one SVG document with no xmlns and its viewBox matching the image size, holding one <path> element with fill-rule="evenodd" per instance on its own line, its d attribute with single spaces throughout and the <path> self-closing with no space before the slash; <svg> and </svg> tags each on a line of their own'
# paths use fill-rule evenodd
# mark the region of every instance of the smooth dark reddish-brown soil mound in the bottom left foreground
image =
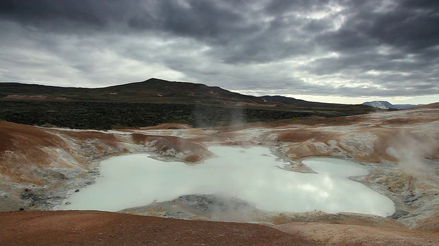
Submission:
<svg viewBox="0 0 439 246">
<path fill-rule="evenodd" d="M 98 211 L 0 213 L 0 245 L 317 245 L 268 226 Z"/>
</svg>

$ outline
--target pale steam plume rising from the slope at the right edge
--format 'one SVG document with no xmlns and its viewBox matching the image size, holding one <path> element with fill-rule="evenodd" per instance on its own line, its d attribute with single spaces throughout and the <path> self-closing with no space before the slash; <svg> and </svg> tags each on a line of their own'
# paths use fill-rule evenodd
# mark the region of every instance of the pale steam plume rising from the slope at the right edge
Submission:
<svg viewBox="0 0 439 246">
<path fill-rule="evenodd" d="M 399 131 L 389 146 L 386 152 L 398 159 L 403 172 L 426 184 L 438 186 L 434 168 L 425 159 L 438 148 L 436 136 L 408 130 Z"/>
</svg>

